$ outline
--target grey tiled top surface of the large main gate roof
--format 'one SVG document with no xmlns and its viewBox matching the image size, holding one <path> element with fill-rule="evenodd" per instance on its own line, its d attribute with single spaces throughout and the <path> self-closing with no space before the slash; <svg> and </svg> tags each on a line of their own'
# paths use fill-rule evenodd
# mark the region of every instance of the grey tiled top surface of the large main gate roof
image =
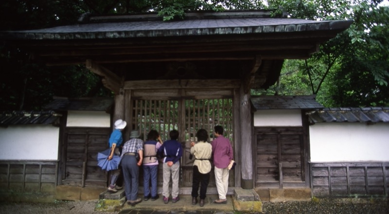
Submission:
<svg viewBox="0 0 389 214">
<path fill-rule="evenodd" d="M 140 16 L 91 17 L 87 23 L 46 29 L 1 32 L 18 39 L 103 39 L 158 36 L 244 35 L 262 33 L 291 33 L 321 30 L 344 30 L 349 20 L 313 21 L 293 18 L 264 18 L 256 12 L 195 13 L 180 21 Z M 135 17 L 135 18 L 134 18 Z M 114 23 L 113 23 L 114 22 Z M 2 36 L 1 36 L 2 37 Z"/>
</svg>

